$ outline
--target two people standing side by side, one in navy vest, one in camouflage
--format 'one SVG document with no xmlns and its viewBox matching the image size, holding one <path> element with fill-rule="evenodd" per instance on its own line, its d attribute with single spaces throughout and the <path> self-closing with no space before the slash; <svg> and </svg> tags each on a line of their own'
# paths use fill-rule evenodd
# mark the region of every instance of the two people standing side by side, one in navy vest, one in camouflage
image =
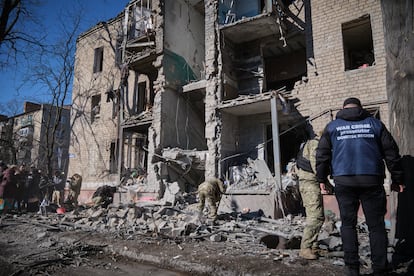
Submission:
<svg viewBox="0 0 414 276">
<path fill-rule="evenodd" d="M 385 125 L 362 107 L 357 98 L 343 103 L 336 119 L 321 136 L 310 137 L 297 158 L 299 188 L 306 210 L 306 226 L 299 255 L 318 258 L 318 233 L 324 223 L 322 194 L 333 179 L 341 218 L 346 275 L 360 275 L 357 218 L 362 206 L 368 225 L 374 275 L 389 270 L 385 228 L 385 166 L 391 190 L 402 192 L 403 170 L 398 146 Z"/>
</svg>

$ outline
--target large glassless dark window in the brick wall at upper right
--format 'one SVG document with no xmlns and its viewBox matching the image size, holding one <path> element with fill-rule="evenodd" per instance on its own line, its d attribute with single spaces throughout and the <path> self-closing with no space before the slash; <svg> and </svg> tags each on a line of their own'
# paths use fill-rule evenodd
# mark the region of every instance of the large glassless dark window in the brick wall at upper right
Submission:
<svg viewBox="0 0 414 276">
<path fill-rule="evenodd" d="M 364 15 L 342 24 L 345 71 L 375 65 L 371 20 Z"/>
</svg>

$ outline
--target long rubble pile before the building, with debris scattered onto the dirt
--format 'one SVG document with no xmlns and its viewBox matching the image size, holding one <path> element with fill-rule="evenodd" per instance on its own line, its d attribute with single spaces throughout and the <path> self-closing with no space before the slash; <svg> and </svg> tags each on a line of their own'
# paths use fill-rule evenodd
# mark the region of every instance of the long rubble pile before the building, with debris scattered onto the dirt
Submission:
<svg viewBox="0 0 414 276">
<path fill-rule="evenodd" d="M 84 208 L 78 210 L 77 213 L 8 216 L 3 222 L 6 224 L 17 222 L 46 228 L 46 231 L 35 233 L 39 250 L 51 251 L 53 249 L 56 251 L 53 253 L 52 250 L 52 254 L 59 256 L 55 263 L 62 266 L 67 265 L 67 262 L 73 265 L 76 261 L 85 264 L 83 256 L 100 252 L 101 248 L 78 248 L 80 244 L 70 242 L 69 248 L 66 244 L 62 251 L 59 241 L 49 237 L 52 232 L 81 231 L 85 235 L 100 233 L 125 242 L 135 240 L 141 244 L 145 241 L 152 244 L 166 243 L 180 250 L 202 247 L 203 252 L 209 248 L 209 254 L 216 250 L 221 256 L 228 257 L 234 255 L 237 250 L 243 252 L 243 256 L 246 257 L 261 256 L 264 259 L 287 265 L 298 259 L 299 250 L 297 249 L 300 247 L 305 217 L 287 215 L 282 219 L 271 219 L 258 212 L 233 212 L 219 214 L 216 223 L 212 223 L 205 219 L 206 216 L 200 216 L 196 207 L 196 204 L 188 204 L 185 201 L 177 201 L 171 206 L 154 202 L 147 202 L 141 206 L 139 204 L 110 204 L 107 208 Z M 6 226 L 4 223 L 3 225 Z M 319 246 L 325 261 L 333 266 L 342 267 L 344 262 L 339 233 L 340 225 L 340 221 L 333 213 L 326 214 L 326 221 L 319 235 Z M 361 263 L 365 270 L 369 270 L 368 229 L 364 221 L 359 222 L 358 229 Z M 188 253 L 181 252 L 183 252 L 181 255 Z M 173 257 L 180 259 L 187 256 L 181 255 Z M 172 261 L 177 261 L 174 258 Z M 52 260 L 53 258 L 44 259 Z M 37 264 L 33 261 L 30 265 L 32 264 L 41 266 L 43 263 Z M 27 264 L 21 265 L 27 268 Z"/>
</svg>

